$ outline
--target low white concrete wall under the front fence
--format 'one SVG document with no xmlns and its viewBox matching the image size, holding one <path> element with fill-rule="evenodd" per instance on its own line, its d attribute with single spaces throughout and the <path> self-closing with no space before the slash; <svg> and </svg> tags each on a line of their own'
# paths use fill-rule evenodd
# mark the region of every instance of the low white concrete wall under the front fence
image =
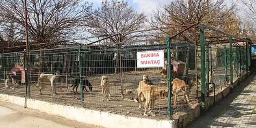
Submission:
<svg viewBox="0 0 256 128">
<path fill-rule="evenodd" d="M 0 94 L 0 100 L 24 106 L 25 98 Z M 46 112 L 48 114 L 59 115 L 68 119 L 106 128 L 176 128 L 177 126 L 174 120 L 129 117 L 33 99 L 27 100 L 27 107 L 41 112 Z"/>
</svg>

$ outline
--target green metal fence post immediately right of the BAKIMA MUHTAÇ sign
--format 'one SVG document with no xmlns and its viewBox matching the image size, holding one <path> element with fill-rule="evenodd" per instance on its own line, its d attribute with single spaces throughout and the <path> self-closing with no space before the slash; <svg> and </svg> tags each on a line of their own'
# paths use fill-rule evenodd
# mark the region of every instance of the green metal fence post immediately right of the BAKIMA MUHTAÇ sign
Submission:
<svg viewBox="0 0 256 128">
<path fill-rule="evenodd" d="M 168 85 L 168 113 L 169 119 L 171 119 L 171 43 L 169 36 L 166 37 L 167 43 L 167 85 Z"/>
</svg>

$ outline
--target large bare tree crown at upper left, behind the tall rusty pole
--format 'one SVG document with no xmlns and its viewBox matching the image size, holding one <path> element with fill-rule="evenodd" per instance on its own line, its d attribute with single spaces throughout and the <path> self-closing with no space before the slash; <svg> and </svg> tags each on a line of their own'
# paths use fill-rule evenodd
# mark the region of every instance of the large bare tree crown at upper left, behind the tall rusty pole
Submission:
<svg viewBox="0 0 256 128">
<path fill-rule="evenodd" d="M 22 26 L 24 35 L 24 0 L 0 0 L 0 17 Z M 78 33 L 93 13 L 92 4 L 80 0 L 28 0 L 28 36 L 34 42 L 50 42 Z"/>
</svg>

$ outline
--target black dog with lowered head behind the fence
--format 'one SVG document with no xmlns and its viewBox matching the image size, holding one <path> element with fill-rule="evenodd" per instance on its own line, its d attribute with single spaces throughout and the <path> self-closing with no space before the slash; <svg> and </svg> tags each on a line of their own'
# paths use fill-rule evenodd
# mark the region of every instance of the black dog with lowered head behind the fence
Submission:
<svg viewBox="0 0 256 128">
<path fill-rule="evenodd" d="M 70 87 L 74 86 L 73 89 L 72 89 L 73 92 L 74 92 L 74 94 L 78 94 L 78 92 L 77 92 L 78 85 L 81 86 L 81 84 L 80 84 L 80 79 L 75 79 L 75 80 L 73 81 L 73 84 L 70 86 Z M 91 83 L 89 82 L 89 80 L 87 80 L 87 79 L 82 79 L 82 85 L 83 85 L 83 86 L 82 86 L 83 91 L 88 92 L 85 86 L 88 86 L 88 87 L 89 87 L 89 90 L 92 91 L 92 85 L 91 85 Z M 76 92 L 74 91 L 75 87 L 76 87 Z"/>
</svg>

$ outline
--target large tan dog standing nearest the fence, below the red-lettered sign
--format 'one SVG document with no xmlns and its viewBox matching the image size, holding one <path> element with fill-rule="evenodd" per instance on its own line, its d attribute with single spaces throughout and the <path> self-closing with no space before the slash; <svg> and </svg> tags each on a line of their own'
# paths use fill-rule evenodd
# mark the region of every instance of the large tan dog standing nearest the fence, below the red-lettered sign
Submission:
<svg viewBox="0 0 256 128">
<path fill-rule="evenodd" d="M 139 98 L 139 109 L 141 109 L 142 101 L 146 100 L 144 104 L 144 115 L 147 116 L 146 112 L 154 107 L 156 98 L 168 97 L 167 87 L 158 87 L 156 85 L 148 85 L 144 81 L 139 82 L 138 98 Z"/>
</svg>

